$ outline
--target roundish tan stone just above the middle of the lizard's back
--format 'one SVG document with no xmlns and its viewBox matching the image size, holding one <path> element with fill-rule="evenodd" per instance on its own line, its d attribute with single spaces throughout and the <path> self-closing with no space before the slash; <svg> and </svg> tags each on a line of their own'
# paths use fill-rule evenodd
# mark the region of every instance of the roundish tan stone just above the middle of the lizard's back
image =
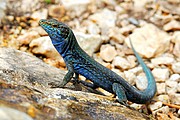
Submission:
<svg viewBox="0 0 180 120">
<path fill-rule="evenodd" d="M 115 56 L 117 55 L 117 52 L 115 50 L 114 46 L 111 46 L 109 44 L 106 45 L 102 45 L 100 48 L 100 57 L 107 61 L 107 62 L 111 62 Z"/>
</svg>

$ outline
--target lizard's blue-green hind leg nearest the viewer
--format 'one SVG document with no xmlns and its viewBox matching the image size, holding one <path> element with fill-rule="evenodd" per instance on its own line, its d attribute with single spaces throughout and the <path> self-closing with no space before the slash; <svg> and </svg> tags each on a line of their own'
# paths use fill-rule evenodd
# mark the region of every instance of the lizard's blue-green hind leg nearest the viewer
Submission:
<svg viewBox="0 0 180 120">
<path fill-rule="evenodd" d="M 128 106 L 124 88 L 119 83 L 113 83 L 112 89 L 113 89 L 113 92 L 118 97 L 117 99 L 118 102 L 121 103 L 122 105 Z"/>
</svg>

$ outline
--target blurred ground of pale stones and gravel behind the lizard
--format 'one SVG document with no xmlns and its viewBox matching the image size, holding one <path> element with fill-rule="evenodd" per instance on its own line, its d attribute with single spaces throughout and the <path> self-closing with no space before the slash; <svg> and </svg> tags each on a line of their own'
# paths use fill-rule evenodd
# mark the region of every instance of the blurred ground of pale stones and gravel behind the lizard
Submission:
<svg viewBox="0 0 180 120">
<path fill-rule="evenodd" d="M 40 19 L 56 18 L 73 29 L 80 46 L 90 56 L 143 90 L 146 77 L 130 48 L 130 38 L 157 83 L 154 102 L 147 105 L 148 114 L 159 120 L 180 117 L 179 0 L 0 2 L 1 47 L 28 52 L 66 70 L 49 37 L 38 25 Z M 129 104 L 143 111 L 142 105 Z"/>
</svg>

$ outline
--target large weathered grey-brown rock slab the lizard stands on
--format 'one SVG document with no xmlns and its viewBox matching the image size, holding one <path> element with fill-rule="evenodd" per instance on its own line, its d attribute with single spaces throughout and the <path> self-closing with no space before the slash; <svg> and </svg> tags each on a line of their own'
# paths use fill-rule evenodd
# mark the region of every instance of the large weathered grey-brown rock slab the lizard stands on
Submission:
<svg viewBox="0 0 180 120">
<path fill-rule="evenodd" d="M 24 113 L 37 120 L 148 119 L 138 111 L 122 107 L 111 97 L 70 90 L 72 87 L 68 85 L 50 88 L 51 82 L 60 83 L 63 77 L 64 71 L 32 55 L 0 48 L 0 103 L 22 111 L 16 115 L 18 119 Z"/>
</svg>

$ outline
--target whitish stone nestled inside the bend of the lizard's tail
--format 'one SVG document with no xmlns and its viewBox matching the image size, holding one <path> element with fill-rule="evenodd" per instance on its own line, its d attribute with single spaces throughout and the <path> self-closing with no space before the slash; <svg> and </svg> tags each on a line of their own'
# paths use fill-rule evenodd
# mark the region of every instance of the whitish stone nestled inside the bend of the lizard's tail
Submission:
<svg viewBox="0 0 180 120">
<path fill-rule="evenodd" d="M 148 83 L 147 83 L 146 76 L 137 76 L 136 86 L 139 90 L 146 89 L 147 85 L 148 85 Z"/>
</svg>

